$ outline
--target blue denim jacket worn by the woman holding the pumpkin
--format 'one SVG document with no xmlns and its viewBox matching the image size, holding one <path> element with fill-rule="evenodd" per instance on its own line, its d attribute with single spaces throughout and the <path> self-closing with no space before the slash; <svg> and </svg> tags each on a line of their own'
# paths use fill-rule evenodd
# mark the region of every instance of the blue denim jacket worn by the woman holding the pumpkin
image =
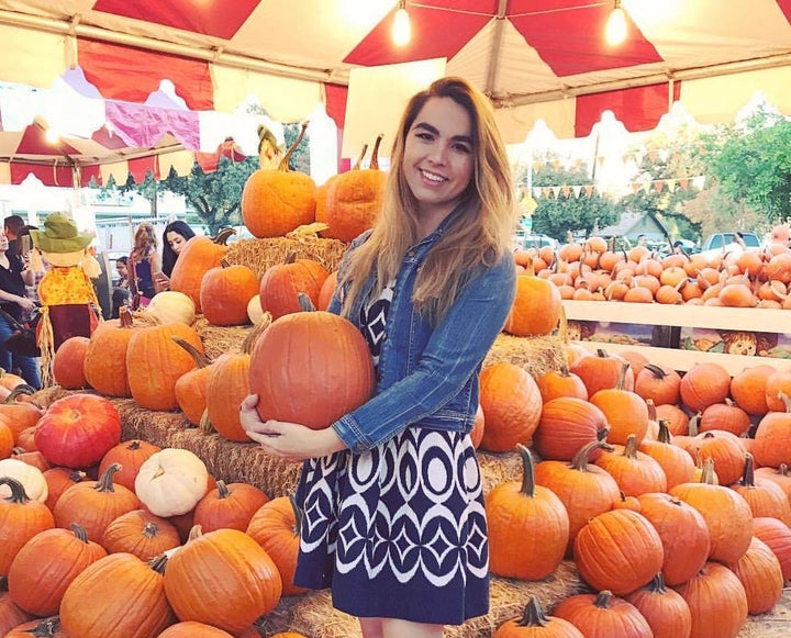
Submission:
<svg viewBox="0 0 791 638">
<path fill-rule="evenodd" d="M 478 408 L 478 376 L 489 348 L 502 329 L 515 293 L 513 257 L 471 275 L 442 322 L 433 327 L 412 304 L 415 276 L 428 250 L 442 237 L 443 223 L 406 253 L 382 337 L 375 395 L 332 424 L 355 454 L 381 445 L 414 425 L 470 432 Z M 367 239 L 361 235 L 348 251 Z M 341 269 L 343 269 L 343 262 Z M 359 326 L 360 306 L 376 279 L 371 273 L 352 306 Z M 339 313 L 344 290 L 327 309 Z"/>
</svg>

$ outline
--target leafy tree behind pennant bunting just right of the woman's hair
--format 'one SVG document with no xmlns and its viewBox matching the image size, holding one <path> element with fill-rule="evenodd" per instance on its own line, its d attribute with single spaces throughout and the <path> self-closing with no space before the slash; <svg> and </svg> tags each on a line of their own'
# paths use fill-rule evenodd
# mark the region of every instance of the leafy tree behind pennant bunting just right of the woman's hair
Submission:
<svg viewBox="0 0 791 638">
<path fill-rule="evenodd" d="M 533 172 L 533 187 L 583 186 L 590 183 L 586 167 L 566 168 L 553 157 Z M 517 176 L 517 184 L 527 186 L 527 174 Z M 569 232 L 590 235 L 594 228 L 615 223 L 622 209 L 611 199 L 593 191 L 590 197 L 541 198 L 533 213 L 533 232 L 565 239 Z"/>
</svg>

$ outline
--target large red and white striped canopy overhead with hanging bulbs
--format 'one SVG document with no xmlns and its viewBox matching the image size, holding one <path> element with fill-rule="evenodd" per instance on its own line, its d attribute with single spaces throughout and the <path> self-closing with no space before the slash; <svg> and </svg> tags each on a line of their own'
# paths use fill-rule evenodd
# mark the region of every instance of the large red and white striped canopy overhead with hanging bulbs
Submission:
<svg viewBox="0 0 791 638">
<path fill-rule="evenodd" d="M 584 136 L 604 110 L 648 130 L 673 101 L 728 121 L 756 90 L 791 112 L 791 0 L 623 0 L 626 41 L 605 44 L 613 0 L 0 0 L 0 81 L 42 88 L 76 65 L 108 100 L 144 102 L 163 79 L 192 111 L 250 94 L 293 122 L 324 103 L 342 128 L 355 69 L 443 58 L 492 99 L 509 142 L 537 119 Z M 349 87 L 349 78 L 352 86 Z M 376 96 L 368 98 L 376 103 Z"/>
</svg>

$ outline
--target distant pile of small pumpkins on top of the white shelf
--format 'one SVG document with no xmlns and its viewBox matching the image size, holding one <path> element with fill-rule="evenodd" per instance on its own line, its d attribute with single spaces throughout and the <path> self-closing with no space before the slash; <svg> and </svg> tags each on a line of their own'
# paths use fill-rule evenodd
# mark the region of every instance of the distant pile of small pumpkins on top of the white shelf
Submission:
<svg viewBox="0 0 791 638">
<path fill-rule="evenodd" d="M 569 242 L 557 250 L 520 249 L 516 262 L 553 281 L 562 299 L 731 307 L 791 307 L 789 227 L 776 226 L 766 248 L 706 257 L 666 257 L 645 246 L 615 250 L 602 237 Z"/>
</svg>

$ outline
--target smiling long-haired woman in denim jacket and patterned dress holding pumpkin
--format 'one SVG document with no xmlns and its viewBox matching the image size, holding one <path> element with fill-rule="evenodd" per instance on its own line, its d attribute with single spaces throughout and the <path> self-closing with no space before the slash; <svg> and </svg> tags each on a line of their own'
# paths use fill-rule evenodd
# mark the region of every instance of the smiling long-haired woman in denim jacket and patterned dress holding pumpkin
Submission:
<svg viewBox="0 0 791 638">
<path fill-rule="evenodd" d="M 366 638 L 439 638 L 488 612 L 489 550 L 469 432 L 478 374 L 513 302 L 516 211 L 486 97 L 459 78 L 409 102 L 381 213 L 347 250 L 330 311 L 366 336 L 375 396 L 324 430 L 242 403 L 267 451 L 305 460 L 294 582 L 332 586 Z"/>
</svg>

